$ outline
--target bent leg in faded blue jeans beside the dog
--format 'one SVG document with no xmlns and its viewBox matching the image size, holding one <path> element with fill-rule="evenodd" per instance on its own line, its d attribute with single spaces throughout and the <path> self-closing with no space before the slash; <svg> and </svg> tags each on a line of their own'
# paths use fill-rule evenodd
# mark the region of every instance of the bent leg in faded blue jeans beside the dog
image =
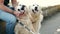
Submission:
<svg viewBox="0 0 60 34">
<path fill-rule="evenodd" d="M 13 34 L 16 17 L 10 13 L 0 10 L 0 19 L 6 21 L 6 34 Z"/>
</svg>

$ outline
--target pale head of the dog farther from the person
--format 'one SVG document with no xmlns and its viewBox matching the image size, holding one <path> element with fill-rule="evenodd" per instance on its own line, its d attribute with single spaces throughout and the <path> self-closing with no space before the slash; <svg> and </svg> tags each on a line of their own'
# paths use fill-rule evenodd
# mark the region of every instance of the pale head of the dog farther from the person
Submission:
<svg viewBox="0 0 60 34">
<path fill-rule="evenodd" d="M 30 13 L 31 14 L 39 14 L 39 13 L 42 13 L 40 6 L 37 5 L 37 4 L 33 4 L 33 5 L 29 6 L 29 10 L 30 10 Z"/>
</svg>

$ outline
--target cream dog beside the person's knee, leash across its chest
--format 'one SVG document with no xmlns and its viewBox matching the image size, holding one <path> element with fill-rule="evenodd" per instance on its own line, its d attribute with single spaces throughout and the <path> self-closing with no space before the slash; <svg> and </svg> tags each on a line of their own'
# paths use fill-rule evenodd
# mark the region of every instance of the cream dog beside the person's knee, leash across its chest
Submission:
<svg viewBox="0 0 60 34">
<path fill-rule="evenodd" d="M 16 11 L 20 11 L 22 14 L 17 18 L 19 22 L 15 26 L 15 34 L 34 34 L 35 30 L 29 19 L 29 12 L 26 5 L 19 4 L 16 7 Z"/>
</svg>

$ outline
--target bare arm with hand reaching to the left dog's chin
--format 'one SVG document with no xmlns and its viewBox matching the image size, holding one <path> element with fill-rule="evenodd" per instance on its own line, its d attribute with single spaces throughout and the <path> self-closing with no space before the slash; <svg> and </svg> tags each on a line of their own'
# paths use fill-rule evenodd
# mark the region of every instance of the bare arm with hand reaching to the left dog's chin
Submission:
<svg viewBox="0 0 60 34">
<path fill-rule="evenodd" d="M 0 0 L 0 9 L 1 10 L 4 10 L 5 12 L 8 12 L 8 13 L 11 13 L 11 14 L 14 14 L 15 16 L 19 16 L 20 12 L 19 11 L 14 11 L 14 10 L 11 10 L 10 8 L 6 7 L 4 5 L 4 0 Z"/>
</svg>

